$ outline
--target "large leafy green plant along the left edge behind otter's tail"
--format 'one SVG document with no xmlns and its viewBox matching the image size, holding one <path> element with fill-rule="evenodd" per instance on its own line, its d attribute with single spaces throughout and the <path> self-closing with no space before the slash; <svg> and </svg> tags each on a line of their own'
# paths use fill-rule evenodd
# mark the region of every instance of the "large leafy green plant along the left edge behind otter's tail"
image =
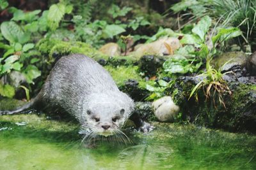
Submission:
<svg viewBox="0 0 256 170">
<path fill-rule="evenodd" d="M 63 15 L 72 11 L 72 6 L 63 3 L 52 4 L 50 10 L 44 11 L 41 16 L 41 10 L 24 12 L 12 7 L 9 11 L 13 13 L 13 18 L 0 26 L 2 37 L 0 48 L 3 49 L 0 58 L 0 77 L 15 70 L 24 75 L 28 84 L 33 84 L 35 78 L 41 75 L 41 71 L 36 66 L 36 62 L 40 59 L 36 58 L 38 52 L 35 50 L 33 38 L 37 35 L 42 36 L 45 31 L 51 34 L 51 30 L 58 27 Z M 21 88 L 26 90 L 29 99 L 28 89 L 24 86 Z M 1 96 L 13 97 L 14 94 L 14 87 L 1 85 Z"/>
</svg>

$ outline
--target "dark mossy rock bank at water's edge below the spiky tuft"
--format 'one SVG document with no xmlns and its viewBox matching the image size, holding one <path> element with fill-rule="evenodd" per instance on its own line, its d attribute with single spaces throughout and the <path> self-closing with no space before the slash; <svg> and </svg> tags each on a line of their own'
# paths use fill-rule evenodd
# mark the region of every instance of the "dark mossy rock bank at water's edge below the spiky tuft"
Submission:
<svg viewBox="0 0 256 170">
<path fill-rule="evenodd" d="M 195 81 L 180 79 L 170 89 L 175 91 L 174 101 L 180 106 L 182 113 L 181 122 L 227 129 L 228 131 L 256 132 L 256 86 L 242 83 L 230 83 L 232 96 L 222 94 L 225 107 L 220 104 L 218 96 L 214 99 L 205 99 L 202 89 L 197 96 L 189 99 Z"/>
</svg>

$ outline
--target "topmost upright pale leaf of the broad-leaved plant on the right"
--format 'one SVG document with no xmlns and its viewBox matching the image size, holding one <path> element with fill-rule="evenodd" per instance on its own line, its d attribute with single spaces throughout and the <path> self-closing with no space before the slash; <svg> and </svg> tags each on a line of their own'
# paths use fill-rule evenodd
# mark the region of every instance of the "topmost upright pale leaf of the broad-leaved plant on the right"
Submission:
<svg viewBox="0 0 256 170">
<path fill-rule="evenodd" d="M 192 32 L 197 34 L 202 39 L 202 41 L 204 41 L 205 34 L 207 31 L 209 31 L 211 24 L 211 18 L 206 15 L 205 17 L 201 18 L 198 24 L 195 25 L 195 27 L 192 29 Z"/>
</svg>

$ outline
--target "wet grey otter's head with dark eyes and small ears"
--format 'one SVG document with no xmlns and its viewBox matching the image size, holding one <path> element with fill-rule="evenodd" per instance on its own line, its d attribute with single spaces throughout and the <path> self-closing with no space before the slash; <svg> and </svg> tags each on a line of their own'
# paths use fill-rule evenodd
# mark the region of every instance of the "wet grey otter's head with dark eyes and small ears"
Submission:
<svg viewBox="0 0 256 170">
<path fill-rule="evenodd" d="M 113 108 L 111 106 L 97 106 L 86 110 L 88 127 L 102 136 L 110 136 L 120 131 L 119 127 L 124 122 L 124 108 Z"/>
</svg>

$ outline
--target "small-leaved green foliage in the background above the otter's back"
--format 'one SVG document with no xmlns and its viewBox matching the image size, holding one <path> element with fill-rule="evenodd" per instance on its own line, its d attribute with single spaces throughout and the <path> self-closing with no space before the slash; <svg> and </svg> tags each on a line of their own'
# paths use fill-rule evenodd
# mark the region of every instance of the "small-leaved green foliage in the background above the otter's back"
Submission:
<svg viewBox="0 0 256 170">
<path fill-rule="evenodd" d="M 119 35 L 123 32 L 129 34 L 127 30 L 128 28 L 136 31 L 140 26 L 150 24 L 143 17 L 136 17 L 128 22 L 122 22 L 118 19 L 120 17 L 125 17 L 125 15 L 127 15 L 131 10 L 132 8 L 129 7 L 120 9 L 118 6 L 113 4 L 108 10 L 108 14 L 112 17 L 112 22 L 110 23 L 106 20 L 94 20 L 92 22 L 84 19 L 81 15 L 75 15 L 72 18 L 72 22 L 75 24 L 76 39 L 99 48 L 107 41 L 107 39 L 119 39 Z M 145 36 L 136 36 L 136 41 L 142 38 L 145 38 Z"/>
</svg>

